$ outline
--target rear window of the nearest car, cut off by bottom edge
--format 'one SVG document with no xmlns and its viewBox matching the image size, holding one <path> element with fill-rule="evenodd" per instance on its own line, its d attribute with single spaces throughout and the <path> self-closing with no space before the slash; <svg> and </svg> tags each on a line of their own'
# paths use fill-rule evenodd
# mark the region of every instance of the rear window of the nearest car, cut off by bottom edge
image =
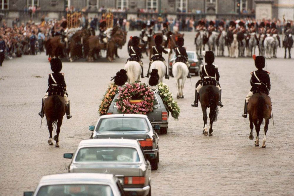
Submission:
<svg viewBox="0 0 294 196">
<path fill-rule="evenodd" d="M 113 196 L 109 185 L 71 184 L 42 186 L 37 196 Z"/>
</svg>

